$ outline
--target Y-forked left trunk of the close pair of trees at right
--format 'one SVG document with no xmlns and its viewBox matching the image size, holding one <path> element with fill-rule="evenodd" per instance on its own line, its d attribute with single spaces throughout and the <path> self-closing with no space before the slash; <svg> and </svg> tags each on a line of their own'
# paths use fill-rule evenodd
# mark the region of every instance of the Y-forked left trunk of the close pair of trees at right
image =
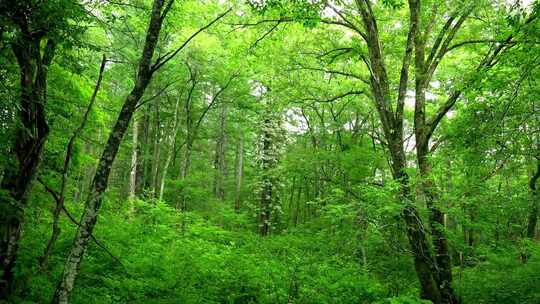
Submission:
<svg viewBox="0 0 540 304">
<path fill-rule="evenodd" d="M 410 191 L 403 145 L 403 107 L 407 91 L 408 70 L 412 50 L 414 48 L 414 42 L 418 39 L 417 36 L 419 35 L 420 2 L 418 0 L 409 0 L 409 33 L 407 35 L 405 54 L 402 61 L 395 109 L 391 105 L 390 84 L 371 2 L 369 0 L 357 1 L 357 5 L 366 31 L 366 33 L 362 33 L 362 37 L 368 46 L 369 61 L 367 58 L 364 61 L 371 72 L 371 91 L 374 96 L 383 133 L 388 142 L 393 177 L 400 184 L 400 199 L 403 202 L 402 216 L 407 227 L 407 237 L 413 254 L 416 274 L 420 281 L 421 297 L 431 300 L 436 304 L 444 303 L 437 284 L 435 259 L 427 241 L 427 235 L 420 214 L 414 205 L 414 196 Z"/>
</svg>

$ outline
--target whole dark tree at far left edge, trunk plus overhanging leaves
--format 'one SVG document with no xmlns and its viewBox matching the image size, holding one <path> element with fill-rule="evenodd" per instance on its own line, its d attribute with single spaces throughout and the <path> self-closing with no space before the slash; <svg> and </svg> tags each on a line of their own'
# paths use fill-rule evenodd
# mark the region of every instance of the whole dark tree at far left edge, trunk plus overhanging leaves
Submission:
<svg viewBox="0 0 540 304">
<path fill-rule="evenodd" d="M 0 27 L 11 34 L 8 44 L 20 74 L 19 123 L 4 168 L 0 204 L 0 298 L 9 297 L 14 287 L 13 267 L 21 237 L 24 212 L 49 135 L 46 118 L 47 77 L 57 50 L 74 39 L 80 28 L 69 30 L 71 20 L 84 22 L 74 1 L 0 4 Z"/>
</svg>

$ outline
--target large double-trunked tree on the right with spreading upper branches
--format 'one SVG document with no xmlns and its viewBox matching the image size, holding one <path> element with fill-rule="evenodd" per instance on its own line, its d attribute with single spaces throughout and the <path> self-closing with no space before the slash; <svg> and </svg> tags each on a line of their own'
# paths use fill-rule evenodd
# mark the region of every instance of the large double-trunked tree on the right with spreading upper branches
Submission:
<svg viewBox="0 0 540 304">
<path fill-rule="evenodd" d="M 294 15 L 295 8 L 287 11 L 283 6 L 279 6 L 279 1 L 269 1 L 267 7 L 276 5 L 287 13 Z M 319 69 L 330 74 L 339 74 L 347 77 L 356 78 L 365 84 L 369 85 L 371 97 L 375 108 L 379 114 L 381 128 L 383 130 L 386 147 L 391 158 L 391 167 L 394 179 L 400 184 L 400 196 L 403 202 L 403 218 L 407 225 L 407 234 L 412 248 L 414 263 L 418 278 L 421 284 L 422 298 L 429 299 L 434 303 L 457 303 L 459 302 L 452 290 L 452 264 L 446 236 L 444 233 L 444 214 L 436 204 L 436 190 L 430 179 L 430 164 L 428 156 L 431 151 L 429 148 L 430 139 L 437 129 L 440 121 L 445 117 L 446 113 L 457 102 L 462 94 L 463 89 L 460 86 L 454 86 L 448 94 L 445 102 L 438 106 L 432 117 L 427 117 L 426 114 L 426 89 L 432 81 L 432 77 L 443 57 L 456 48 L 468 44 L 475 43 L 492 43 L 492 47 L 488 49 L 487 54 L 477 64 L 472 71 L 482 72 L 485 69 L 491 68 L 497 63 L 501 52 L 512 47 L 515 42 L 516 33 L 506 34 L 501 40 L 491 39 L 475 39 L 465 42 L 453 43 L 456 33 L 460 30 L 464 22 L 467 20 L 471 11 L 474 10 L 474 5 L 465 5 L 458 8 L 444 7 L 449 11 L 446 21 L 442 26 L 437 24 L 440 18 L 437 13 L 437 3 L 426 3 L 421 1 L 408 1 L 409 6 L 409 26 L 407 30 L 407 39 L 404 45 L 404 54 L 401 60 L 399 73 L 397 74 L 397 85 L 392 84 L 392 75 L 388 68 L 388 56 L 384 52 L 384 43 L 381 36 L 383 35 L 379 29 L 379 21 L 375 13 L 374 4 L 371 1 L 355 1 L 354 4 L 342 3 L 322 3 L 316 9 L 320 10 L 320 6 L 326 6 L 333 12 L 333 17 L 321 18 L 321 23 L 338 25 L 346 28 L 349 32 L 358 35 L 358 38 L 365 43 L 365 50 L 356 50 L 354 47 L 340 47 L 327 51 L 323 56 L 328 56 L 336 53 L 330 65 L 339 56 L 348 53 L 356 53 L 365 64 L 368 70 L 368 77 L 354 72 L 329 71 L 328 69 Z M 431 16 L 424 12 L 424 7 L 429 4 L 434 8 L 435 12 Z M 382 4 L 385 5 L 384 3 Z M 342 7 L 340 7 L 342 6 Z M 389 6 L 392 6 L 390 3 Z M 399 5 L 394 5 L 398 7 Z M 357 16 L 359 15 L 359 21 Z M 296 18 L 295 18 L 296 17 Z M 286 16 L 274 20 L 265 20 L 263 22 L 275 22 L 276 26 L 282 22 L 290 22 L 294 20 L 304 21 L 313 18 L 311 16 Z M 444 18 L 444 17 L 443 17 Z M 534 13 L 524 20 L 526 25 L 536 18 Z M 422 20 L 428 20 L 424 25 Z M 437 35 L 433 35 L 434 29 L 440 28 Z M 516 30 L 516 29 L 512 29 Z M 519 31 L 519 27 L 517 31 Z M 426 45 L 433 36 L 432 47 L 428 51 Z M 496 43 L 495 43 L 496 42 Z M 425 53 L 429 53 L 427 59 Z M 414 55 L 414 61 L 413 61 Z M 404 107 L 407 97 L 409 83 L 409 68 L 413 64 L 414 80 L 415 80 L 415 98 L 414 98 L 414 134 L 416 140 L 416 159 L 422 177 L 422 191 L 426 199 L 428 209 L 430 210 L 429 225 L 431 234 L 433 235 L 433 247 L 435 252 L 431 251 L 429 244 L 429 235 L 424 229 L 423 221 L 420 213 L 417 210 L 414 202 L 416 198 L 411 192 L 409 183 L 409 173 L 407 173 L 407 157 L 404 147 Z M 469 72 L 471 73 L 471 72 Z M 473 78 L 474 79 L 474 78 Z M 474 81 L 474 80 L 470 80 Z M 396 87 L 397 91 L 392 92 L 392 87 Z M 393 102 L 395 100 L 395 103 Z"/>
</svg>

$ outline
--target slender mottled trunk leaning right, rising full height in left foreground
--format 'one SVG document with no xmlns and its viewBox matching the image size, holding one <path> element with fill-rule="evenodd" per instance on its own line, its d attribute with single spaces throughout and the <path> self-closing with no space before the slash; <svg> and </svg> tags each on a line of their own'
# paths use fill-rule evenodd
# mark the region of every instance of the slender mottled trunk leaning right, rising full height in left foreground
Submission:
<svg viewBox="0 0 540 304">
<path fill-rule="evenodd" d="M 109 134 L 107 144 L 105 145 L 105 149 L 99 160 L 86 200 L 85 209 L 81 217 L 80 226 L 73 239 L 73 244 L 67 257 L 64 270 L 52 299 L 52 303 L 54 304 L 69 303 L 69 297 L 74 287 L 75 278 L 78 275 L 84 253 L 97 222 L 98 212 L 101 208 L 104 192 L 107 189 L 107 182 L 112 164 L 118 153 L 122 138 L 128 129 L 129 121 L 131 120 L 137 103 L 144 94 L 146 87 L 150 83 L 152 74 L 155 71 L 152 66 L 152 56 L 156 48 L 163 19 L 171 4 L 172 2 L 169 2 L 169 6 L 165 8 L 162 14 L 164 0 L 153 1 L 152 14 L 146 33 L 144 49 L 139 61 L 135 86 L 124 101 L 122 110 L 120 111 L 116 124 Z"/>
</svg>

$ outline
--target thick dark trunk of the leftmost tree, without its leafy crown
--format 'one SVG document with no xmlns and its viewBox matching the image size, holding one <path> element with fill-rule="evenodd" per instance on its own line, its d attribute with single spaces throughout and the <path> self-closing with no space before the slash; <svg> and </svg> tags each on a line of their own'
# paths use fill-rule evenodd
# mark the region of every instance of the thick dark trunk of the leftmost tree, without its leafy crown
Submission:
<svg viewBox="0 0 540 304">
<path fill-rule="evenodd" d="M 27 25 L 27 23 L 25 23 Z M 55 43 L 48 40 L 41 55 L 43 36 L 36 37 L 21 25 L 21 37 L 12 50 L 20 71 L 20 124 L 10 149 L 10 163 L 4 168 L 0 185 L 0 299 L 7 299 L 14 287 L 18 250 L 28 194 L 41 164 L 49 135 L 45 118 L 47 70 L 54 57 Z M 5 193 L 5 194 L 4 194 Z"/>
</svg>

